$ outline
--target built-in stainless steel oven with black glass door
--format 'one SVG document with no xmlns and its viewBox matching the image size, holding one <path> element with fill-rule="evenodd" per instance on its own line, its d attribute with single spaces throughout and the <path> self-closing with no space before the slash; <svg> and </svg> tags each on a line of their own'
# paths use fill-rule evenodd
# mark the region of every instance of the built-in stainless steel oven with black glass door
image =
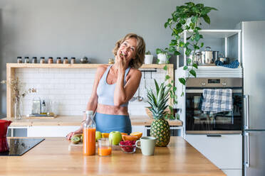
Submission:
<svg viewBox="0 0 265 176">
<path fill-rule="evenodd" d="M 201 111 L 203 89 L 232 89 L 233 110 L 217 114 Z M 189 78 L 186 85 L 186 133 L 241 133 L 242 79 Z"/>
</svg>

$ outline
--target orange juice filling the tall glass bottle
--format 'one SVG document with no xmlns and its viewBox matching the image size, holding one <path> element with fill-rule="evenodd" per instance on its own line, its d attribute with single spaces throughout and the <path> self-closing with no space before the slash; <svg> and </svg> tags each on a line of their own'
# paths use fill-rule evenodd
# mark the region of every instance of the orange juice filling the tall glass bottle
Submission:
<svg viewBox="0 0 265 176">
<path fill-rule="evenodd" d="M 83 128 L 83 154 L 95 155 L 95 128 Z"/>
</svg>

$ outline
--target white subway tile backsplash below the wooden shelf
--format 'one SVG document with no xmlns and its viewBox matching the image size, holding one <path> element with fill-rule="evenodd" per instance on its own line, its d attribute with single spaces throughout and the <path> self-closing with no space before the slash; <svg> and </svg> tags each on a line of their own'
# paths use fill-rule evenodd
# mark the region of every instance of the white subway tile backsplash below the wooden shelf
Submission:
<svg viewBox="0 0 265 176">
<path fill-rule="evenodd" d="M 154 70 L 154 69 L 144 69 Z M 33 98 L 52 102 L 53 111 L 61 116 L 83 116 L 83 111 L 90 99 L 96 69 L 71 68 L 16 68 L 16 77 L 24 82 L 24 89 L 36 88 L 36 93 L 27 94 L 23 99 L 23 114 L 31 114 Z M 145 72 L 145 80 L 140 82 L 140 96 L 146 98 L 147 89 L 155 87 L 157 82 L 165 79 L 165 70 Z M 151 79 L 152 78 L 152 79 Z M 145 82 L 145 85 L 144 85 Z M 138 96 L 135 92 L 134 97 Z M 130 115 L 145 115 L 145 101 L 130 101 L 128 111 Z"/>
</svg>

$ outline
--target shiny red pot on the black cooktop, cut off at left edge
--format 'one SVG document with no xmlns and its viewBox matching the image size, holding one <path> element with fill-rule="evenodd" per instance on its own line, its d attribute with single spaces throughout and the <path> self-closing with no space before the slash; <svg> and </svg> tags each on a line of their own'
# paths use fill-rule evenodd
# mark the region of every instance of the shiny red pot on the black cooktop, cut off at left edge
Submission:
<svg viewBox="0 0 265 176">
<path fill-rule="evenodd" d="M 6 140 L 7 128 L 12 121 L 0 120 L 0 153 L 9 150 L 9 144 Z"/>
</svg>

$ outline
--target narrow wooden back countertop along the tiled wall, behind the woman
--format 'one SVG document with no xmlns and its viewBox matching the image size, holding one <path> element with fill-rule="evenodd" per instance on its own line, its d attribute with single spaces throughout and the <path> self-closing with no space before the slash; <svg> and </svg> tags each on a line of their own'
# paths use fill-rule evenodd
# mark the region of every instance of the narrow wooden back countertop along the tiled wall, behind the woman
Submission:
<svg viewBox="0 0 265 176">
<path fill-rule="evenodd" d="M 6 120 L 6 118 L 4 119 Z M 11 126 L 80 126 L 83 116 L 58 116 L 55 119 L 25 119 L 11 118 Z M 148 116 L 130 116 L 132 126 L 150 126 L 153 119 Z M 182 126 L 182 121 L 169 121 L 170 126 Z"/>
</svg>

